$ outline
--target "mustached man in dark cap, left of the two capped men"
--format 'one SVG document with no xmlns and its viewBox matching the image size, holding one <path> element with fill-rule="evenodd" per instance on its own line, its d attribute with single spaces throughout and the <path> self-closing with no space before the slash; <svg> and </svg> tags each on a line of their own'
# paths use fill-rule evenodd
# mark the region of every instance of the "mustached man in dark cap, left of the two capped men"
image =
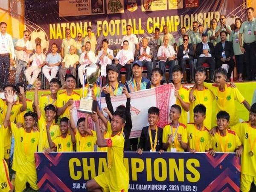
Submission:
<svg viewBox="0 0 256 192">
<path fill-rule="evenodd" d="M 109 83 L 106 84 L 105 87 L 109 87 L 110 96 L 122 95 L 122 90 L 124 88 L 124 85 L 118 82 L 117 80 L 119 76 L 118 73 L 119 73 L 119 70 L 115 65 L 109 65 L 107 69 Z M 101 96 L 102 97 L 106 96 L 104 91 L 102 91 Z"/>
</svg>

